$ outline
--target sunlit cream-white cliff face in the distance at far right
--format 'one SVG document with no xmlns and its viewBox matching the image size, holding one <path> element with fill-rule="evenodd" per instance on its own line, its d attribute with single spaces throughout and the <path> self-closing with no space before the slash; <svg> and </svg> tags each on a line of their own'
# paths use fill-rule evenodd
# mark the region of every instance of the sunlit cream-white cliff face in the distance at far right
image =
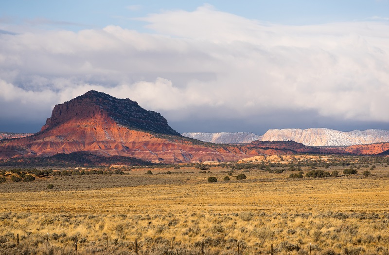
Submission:
<svg viewBox="0 0 389 255">
<path fill-rule="evenodd" d="M 342 132 L 328 128 L 270 129 L 262 141 L 295 141 L 306 146 L 351 146 L 389 142 L 389 130 Z"/>
</svg>

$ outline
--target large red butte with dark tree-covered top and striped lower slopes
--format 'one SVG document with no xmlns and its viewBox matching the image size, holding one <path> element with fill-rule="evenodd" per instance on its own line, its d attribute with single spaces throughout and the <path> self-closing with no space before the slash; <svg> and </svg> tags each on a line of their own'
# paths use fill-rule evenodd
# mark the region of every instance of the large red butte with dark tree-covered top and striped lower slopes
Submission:
<svg viewBox="0 0 389 255">
<path fill-rule="evenodd" d="M 0 159 L 73 152 L 162 163 L 225 162 L 247 157 L 240 150 L 183 137 L 159 113 L 130 99 L 97 91 L 56 105 L 40 132 L 0 140 Z"/>
</svg>

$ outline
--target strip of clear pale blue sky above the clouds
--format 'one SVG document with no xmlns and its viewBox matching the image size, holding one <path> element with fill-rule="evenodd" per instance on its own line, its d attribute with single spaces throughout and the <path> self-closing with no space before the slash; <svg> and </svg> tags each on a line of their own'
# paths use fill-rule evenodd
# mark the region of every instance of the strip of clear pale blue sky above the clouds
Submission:
<svg viewBox="0 0 389 255">
<path fill-rule="evenodd" d="M 245 18 L 292 25 L 389 17 L 388 0 L 7 0 L 1 3 L 0 15 L 11 23 L 37 25 L 41 21 L 42 27 L 73 31 L 107 25 L 142 30 L 142 23 L 131 18 L 166 10 L 193 11 L 205 3 Z"/>
</svg>

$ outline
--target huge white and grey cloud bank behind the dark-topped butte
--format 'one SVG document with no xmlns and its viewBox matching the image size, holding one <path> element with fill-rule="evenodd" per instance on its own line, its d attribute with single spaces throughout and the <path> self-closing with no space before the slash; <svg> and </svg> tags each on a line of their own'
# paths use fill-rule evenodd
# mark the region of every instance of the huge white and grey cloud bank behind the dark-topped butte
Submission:
<svg viewBox="0 0 389 255">
<path fill-rule="evenodd" d="M 45 119 L 54 104 L 95 89 L 175 123 L 235 119 L 260 127 L 265 116 L 285 116 L 280 112 L 304 123 L 389 123 L 385 22 L 286 26 L 210 5 L 139 19 L 156 33 L 107 26 L 0 34 L 8 91 L 0 106 Z M 12 114 L 0 111 L 0 119 Z"/>
</svg>

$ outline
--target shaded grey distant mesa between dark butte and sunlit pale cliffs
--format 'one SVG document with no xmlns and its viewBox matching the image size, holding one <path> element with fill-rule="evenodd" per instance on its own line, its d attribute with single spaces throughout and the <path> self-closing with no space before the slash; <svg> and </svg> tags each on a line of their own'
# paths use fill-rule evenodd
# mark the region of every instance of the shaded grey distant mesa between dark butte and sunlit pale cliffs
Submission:
<svg viewBox="0 0 389 255">
<path fill-rule="evenodd" d="M 182 133 L 181 135 L 200 141 L 215 144 L 248 144 L 254 140 L 261 140 L 262 136 L 249 132 L 239 133 Z"/>
</svg>

